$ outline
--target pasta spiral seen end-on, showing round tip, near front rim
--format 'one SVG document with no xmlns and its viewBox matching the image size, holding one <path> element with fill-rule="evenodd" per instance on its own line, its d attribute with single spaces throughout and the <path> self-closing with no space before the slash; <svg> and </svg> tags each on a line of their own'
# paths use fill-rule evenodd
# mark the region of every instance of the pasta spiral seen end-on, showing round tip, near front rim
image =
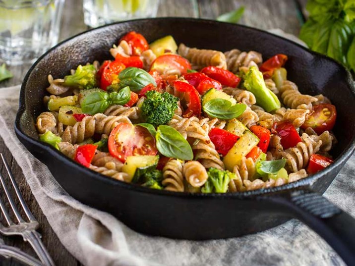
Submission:
<svg viewBox="0 0 355 266">
<path fill-rule="evenodd" d="M 193 187 L 203 186 L 208 178 L 206 168 L 195 160 L 185 162 L 182 173 L 186 181 Z"/>
</svg>

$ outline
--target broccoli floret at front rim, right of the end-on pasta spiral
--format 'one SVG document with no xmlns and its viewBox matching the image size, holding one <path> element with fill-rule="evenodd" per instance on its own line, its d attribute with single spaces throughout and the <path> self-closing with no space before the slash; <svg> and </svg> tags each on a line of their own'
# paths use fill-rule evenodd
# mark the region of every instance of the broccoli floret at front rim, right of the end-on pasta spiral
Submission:
<svg viewBox="0 0 355 266">
<path fill-rule="evenodd" d="M 208 169 L 207 174 L 207 182 L 201 189 L 203 193 L 226 193 L 229 181 L 235 178 L 234 173 L 231 173 L 230 171 L 222 171 L 213 167 Z"/>
</svg>

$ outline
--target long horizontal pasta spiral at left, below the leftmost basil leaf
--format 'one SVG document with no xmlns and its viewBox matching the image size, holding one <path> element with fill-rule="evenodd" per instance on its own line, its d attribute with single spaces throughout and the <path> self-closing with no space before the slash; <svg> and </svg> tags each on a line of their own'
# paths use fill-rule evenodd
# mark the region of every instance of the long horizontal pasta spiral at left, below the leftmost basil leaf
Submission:
<svg viewBox="0 0 355 266">
<path fill-rule="evenodd" d="M 82 121 L 67 126 L 61 138 L 63 141 L 75 144 L 91 138 L 95 133 L 110 135 L 119 122 L 130 123 L 130 120 L 126 116 L 107 116 L 103 113 L 85 116 Z"/>
</svg>

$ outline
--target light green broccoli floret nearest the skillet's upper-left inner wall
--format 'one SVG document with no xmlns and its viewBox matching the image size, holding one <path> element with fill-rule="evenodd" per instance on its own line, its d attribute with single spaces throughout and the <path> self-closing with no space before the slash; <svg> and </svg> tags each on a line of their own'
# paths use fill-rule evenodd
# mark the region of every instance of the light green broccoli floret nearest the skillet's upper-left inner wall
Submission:
<svg viewBox="0 0 355 266">
<path fill-rule="evenodd" d="M 96 69 L 94 65 L 79 65 L 73 75 L 68 75 L 64 77 L 63 85 L 85 90 L 97 87 Z"/>
</svg>

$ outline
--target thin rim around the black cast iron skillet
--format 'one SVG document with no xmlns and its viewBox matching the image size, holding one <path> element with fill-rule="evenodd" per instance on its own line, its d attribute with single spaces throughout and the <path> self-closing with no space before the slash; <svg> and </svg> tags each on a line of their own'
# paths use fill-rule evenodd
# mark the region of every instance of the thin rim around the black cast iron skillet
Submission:
<svg viewBox="0 0 355 266">
<path fill-rule="evenodd" d="M 288 183 L 288 184 L 285 184 L 285 185 L 282 185 L 282 186 L 277 186 L 277 187 L 272 187 L 272 188 L 264 188 L 264 189 L 257 189 L 257 190 L 244 191 L 244 192 L 233 192 L 233 193 L 231 192 L 231 193 L 203 194 L 203 193 L 191 193 L 191 192 L 173 192 L 173 191 L 167 191 L 167 190 L 154 190 L 154 189 L 146 188 L 146 187 L 143 187 L 143 186 L 140 186 L 140 185 L 137 185 L 137 184 L 126 183 L 126 182 L 114 179 L 112 177 L 108 177 L 108 176 L 103 175 L 101 173 L 95 172 L 93 170 L 90 170 L 89 168 L 82 166 L 81 164 L 75 162 L 74 160 L 70 160 L 69 158 L 67 158 L 65 155 L 60 153 L 58 150 L 56 150 L 55 148 L 53 148 L 49 144 L 43 143 L 43 142 L 41 142 L 39 140 L 36 140 L 36 139 L 26 135 L 21 130 L 21 117 L 22 117 L 23 113 L 26 111 L 26 108 L 25 108 L 25 106 L 26 106 L 25 91 L 26 91 L 27 81 L 28 81 L 32 71 L 36 67 L 36 65 L 45 56 L 47 56 L 52 51 L 57 50 L 61 45 L 65 44 L 67 42 L 70 42 L 70 41 L 72 41 L 73 39 L 75 39 L 75 38 L 77 38 L 79 36 L 85 35 L 88 32 L 101 31 L 103 28 L 109 28 L 109 27 L 111 27 L 113 25 L 117 25 L 117 24 L 126 24 L 126 23 L 131 23 L 131 22 L 152 21 L 152 20 L 153 21 L 159 21 L 159 20 L 184 20 L 184 21 L 188 21 L 188 22 L 203 22 L 203 23 L 209 23 L 209 24 L 228 24 L 228 25 L 233 25 L 235 27 L 241 27 L 241 28 L 250 29 L 252 31 L 260 32 L 262 34 L 269 35 L 272 38 L 281 39 L 283 41 L 286 41 L 286 42 L 290 43 L 293 46 L 296 46 L 296 47 L 302 49 L 306 53 L 312 54 L 315 57 L 323 58 L 325 60 L 332 61 L 333 63 L 336 63 L 338 65 L 338 67 L 340 67 L 341 71 L 343 71 L 343 72 L 345 71 L 346 79 L 344 80 L 344 82 L 346 82 L 346 84 L 348 85 L 348 88 L 350 89 L 350 91 L 352 92 L 352 94 L 353 94 L 353 96 L 355 98 L 355 81 L 353 80 L 353 77 L 352 77 L 351 73 L 349 72 L 349 70 L 347 70 L 343 65 L 338 63 L 333 58 L 330 58 L 330 57 L 328 57 L 328 56 L 326 56 L 324 54 L 321 54 L 321 53 L 317 53 L 317 52 L 311 51 L 311 50 L 299 45 L 298 43 L 293 42 L 293 41 L 291 41 L 289 39 L 286 39 L 284 37 L 269 33 L 269 32 L 264 31 L 264 30 L 256 29 L 256 28 L 253 28 L 253 27 L 240 25 L 240 24 L 237 24 L 237 23 L 220 22 L 220 21 L 215 21 L 215 20 L 210 20 L 210 19 L 186 18 L 186 17 L 142 18 L 142 19 L 134 19 L 134 20 L 114 22 L 114 23 L 111 23 L 111 24 L 100 26 L 98 28 L 89 29 L 89 30 L 80 32 L 80 33 L 78 33 L 78 34 L 76 34 L 76 35 L 74 35 L 74 36 L 72 36 L 70 38 L 67 38 L 67 39 L 59 42 L 56 46 L 54 46 L 53 48 L 48 50 L 46 53 L 41 55 L 32 64 L 32 66 L 29 68 L 29 70 L 27 71 L 27 73 L 26 73 L 26 75 L 25 75 L 25 77 L 24 77 L 24 79 L 22 81 L 21 90 L 20 90 L 20 97 L 19 97 L 19 108 L 18 108 L 18 111 L 16 113 L 16 119 L 15 119 L 15 127 L 14 127 L 15 128 L 15 133 L 19 137 L 21 137 L 21 138 L 25 139 L 27 142 L 31 143 L 32 145 L 37 146 L 38 148 L 42 149 L 43 151 L 48 153 L 50 156 L 53 156 L 53 157 L 57 158 L 59 161 L 61 161 L 64 164 L 66 163 L 68 167 L 77 168 L 78 170 L 82 171 L 84 174 L 90 175 L 90 178 L 91 177 L 92 178 L 97 178 L 98 181 L 111 183 L 113 185 L 120 186 L 122 189 L 136 190 L 137 192 L 140 192 L 140 193 L 154 194 L 154 195 L 159 195 L 159 196 L 179 197 L 179 198 L 180 197 L 192 198 L 192 199 L 199 199 L 201 197 L 203 197 L 203 198 L 238 198 L 238 199 L 247 199 L 247 198 L 261 196 L 261 195 L 265 196 L 265 195 L 270 195 L 270 194 L 275 194 L 275 193 L 290 192 L 290 191 L 296 190 L 296 189 L 309 188 L 316 180 L 321 178 L 323 175 L 328 174 L 334 168 L 338 167 L 341 163 L 346 162 L 351 157 L 351 155 L 354 153 L 354 151 L 355 151 L 355 134 L 353 135 L 353 138 L 352 138 L 351 142 L 347 145 L 346 149 L 344 149 L 343 152 L 340 153 L 338 158 L 335 159 L 334 162 L 330 166 L 326 167 L 325 169 L 319 171 L 316 174 L 309 175 L 309 176 L 307 176 L 305 178 L 302 178 L 302 179 L 300 179 L 300 180 L 298 180 L 296 182 L 292 182 L 292 183 Z M 20 139 L 20 142 L 22 142 L 21 139 Z M 26 147 L 26 149 L 27 149 L 27 147 Z M 56 180 L 57 180 L 57 178 L 56 178 Z"/>
</svg>

